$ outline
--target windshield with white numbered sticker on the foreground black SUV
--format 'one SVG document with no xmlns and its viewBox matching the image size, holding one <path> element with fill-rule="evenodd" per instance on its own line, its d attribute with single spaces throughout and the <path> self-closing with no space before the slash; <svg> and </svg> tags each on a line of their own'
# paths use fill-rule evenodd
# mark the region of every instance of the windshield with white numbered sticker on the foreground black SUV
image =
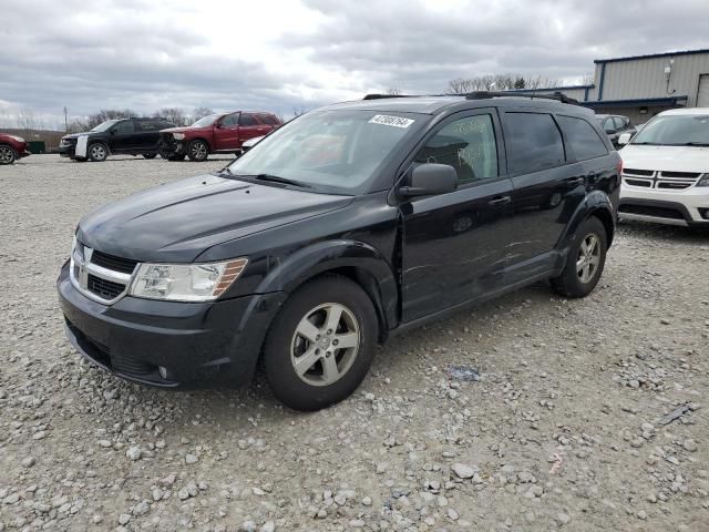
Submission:
<svg viewBox="0 0 709 532">
<path fill-rule="evenodd" d="M 414 113 L 315 111 L 276 130 L 228 170 L 237 177 L 268 174 L 316 192 L 358 194 L 424 121 Z"/>
</svg>

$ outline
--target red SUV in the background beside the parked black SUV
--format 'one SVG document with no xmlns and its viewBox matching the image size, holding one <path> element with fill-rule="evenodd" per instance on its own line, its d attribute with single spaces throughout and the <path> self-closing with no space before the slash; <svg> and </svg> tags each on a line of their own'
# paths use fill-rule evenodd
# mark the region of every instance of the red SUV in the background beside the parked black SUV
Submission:
<svg viewBox="0 0 709 532">
<path fill-rule="evenodd" d="M 206 161 L 210 153 L 237 153 L 242 144 L 282 124 L 273 113 L 235 111 L 210 114 L 187 127 L 162 130 L 157 150 L 163 158 Z"/>
</svg>

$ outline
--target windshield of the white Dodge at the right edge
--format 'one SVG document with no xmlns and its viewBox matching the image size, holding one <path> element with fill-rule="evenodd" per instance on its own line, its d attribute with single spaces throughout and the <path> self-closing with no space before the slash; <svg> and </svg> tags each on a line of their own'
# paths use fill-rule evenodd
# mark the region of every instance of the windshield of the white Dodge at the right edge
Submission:
<svg viewBox="0 0 709 532">
<path fill-rule="evenodd" d="M 656 116 L 633 139 L 633 144 L 709 146 L 709 114 Z"/>
</svg>

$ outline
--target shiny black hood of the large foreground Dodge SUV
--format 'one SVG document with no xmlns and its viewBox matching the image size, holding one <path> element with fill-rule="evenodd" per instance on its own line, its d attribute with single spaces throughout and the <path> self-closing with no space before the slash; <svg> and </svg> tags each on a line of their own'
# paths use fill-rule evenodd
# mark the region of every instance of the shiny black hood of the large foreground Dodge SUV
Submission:
<svg viewBox="0 0 709 532">
<path fill-rule="evenodd" d="M 201 175 L 100 207 L 81 221 L 76 237 L 119 257 L 186 263 L 214 245 L 342 208 L 351 201 Z"/>
</svg>

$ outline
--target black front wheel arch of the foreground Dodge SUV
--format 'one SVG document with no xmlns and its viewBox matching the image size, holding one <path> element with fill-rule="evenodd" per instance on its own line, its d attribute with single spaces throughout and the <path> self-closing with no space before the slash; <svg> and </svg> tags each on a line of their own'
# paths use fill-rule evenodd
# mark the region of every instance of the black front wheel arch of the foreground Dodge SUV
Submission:
<svg viewBox="0 0 709 532">
<path fill-rule="evenodd" d="M 323 275 L 341 275 L 370 298 L 379 323 L 379 339 L 397 325 L 399 287 L 389 263 L 372 246 L 356 241 L 326 241 L 296 252 L 277 263 L 259 285 L 259 293 L 292 294 Z"/>
</svg>

